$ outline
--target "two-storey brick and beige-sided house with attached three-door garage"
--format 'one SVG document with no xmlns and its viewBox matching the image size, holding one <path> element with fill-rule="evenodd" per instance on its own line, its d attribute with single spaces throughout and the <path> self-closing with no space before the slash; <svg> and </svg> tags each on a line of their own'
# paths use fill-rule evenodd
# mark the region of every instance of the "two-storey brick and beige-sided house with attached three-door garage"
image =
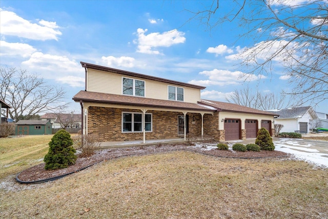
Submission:
<svg viewBox="0 0 328 219">
<path fill-rule="evenodd" d="M 85 90 L 80 103 L 83 133 L 100 141 L 212 136 L 217 140 L 274 134 L 276 113 L 200 99 L 205 87 L 81 62 Z"/>
</svg>

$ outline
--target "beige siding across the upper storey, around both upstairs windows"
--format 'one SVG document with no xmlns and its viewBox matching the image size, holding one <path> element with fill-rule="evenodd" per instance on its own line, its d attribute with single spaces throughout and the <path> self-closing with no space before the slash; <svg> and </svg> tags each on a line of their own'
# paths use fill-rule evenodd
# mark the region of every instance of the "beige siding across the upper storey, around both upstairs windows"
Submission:
<svg viewBox="0 0 328 219">
<path fill-rule="evenodd" d="M 88 69 L 87 91 L 122 94 L 122 77 L 145 81 L 145 97 L 168 100 L 169 84 L 94 69 Z M 176 85 L 171 86 L 179 87 Z M 197 103 L 197 101 L 200 101 L 199 89 L 189 87 L 182 88 L 184 89 L 184 102 Z"/>
</svg>

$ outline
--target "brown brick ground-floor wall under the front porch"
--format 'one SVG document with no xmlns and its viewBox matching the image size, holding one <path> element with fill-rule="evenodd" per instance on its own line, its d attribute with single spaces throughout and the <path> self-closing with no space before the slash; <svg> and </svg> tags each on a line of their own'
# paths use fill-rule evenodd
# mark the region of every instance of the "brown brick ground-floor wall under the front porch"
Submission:
<svg viewBox="0 0 328 219">
<path fill-rule="evenodd" d="M 106 107 L 89 107 L 88 134 L 96 134 L 99 141 L 135 141 L 143 140 L 142 132 L 122 133 L 122 112 L 140 112 L 132 109 L 116 109 Z M 178 115 L 180 112 L 147 111 L 153 115 L 153 131 L 146 132 L 146 140 L 178 137 Z M 192 136 L 201 135 L 201 115 L 188 113 L 189 133 Z M 195 116 L 195 121 L 193 117 Z M 212 117 L 212 115 L 211 115 Z M 183 135 L 182 135 L 183 137 Z"/>
</svg>

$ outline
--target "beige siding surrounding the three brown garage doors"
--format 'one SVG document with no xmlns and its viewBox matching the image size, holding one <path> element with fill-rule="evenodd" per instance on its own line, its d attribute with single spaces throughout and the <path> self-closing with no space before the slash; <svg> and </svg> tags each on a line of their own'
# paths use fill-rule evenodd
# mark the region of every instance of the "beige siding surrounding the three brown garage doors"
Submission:
<svg viewBox="0 0 328 219">
<path fill-rule="evenodd" d="M 273 122 L 272 115 L 258 115 L 258 114 L 247 114 L 247 113 L 234 113 L 234 112 L 219 112 L 219 130 L 224 129 L 224 121 L 221 122 L 224 118 L 236 118 L 241 120 L 241 129 L 245 129 L 245 120 L 257 120 L 259 127 L 261 128 L 262 120 L 270 120 Z M 273 126 L 272 126 L 273 127 Z"/>
</svg>

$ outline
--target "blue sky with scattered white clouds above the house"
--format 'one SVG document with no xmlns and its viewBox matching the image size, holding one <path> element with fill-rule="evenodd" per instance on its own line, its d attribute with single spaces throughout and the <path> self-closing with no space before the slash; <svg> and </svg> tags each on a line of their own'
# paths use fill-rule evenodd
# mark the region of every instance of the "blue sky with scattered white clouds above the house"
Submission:
<svg viewBox="0 0 328 219">
<path fill-rule="evenodd" d="M 249 85 L 261 92 L 289 90 L 283 70 L 247 81 L 234 56 L 256 44 L 239 38 L 237 22 L 211 31 L 189 19 L 211 1 L 0 1 L 1 65 L 27 69 L 67 91 L 84 90 L 80 61 L 206 86 L 201 98 L 225 102 Z M 220 1 L 228 10 L 230 1 Z M 278 68 L 279 69 L 279 68 Z M 328 102 L 316 110 L 327 111 Z"/>
</svg>

